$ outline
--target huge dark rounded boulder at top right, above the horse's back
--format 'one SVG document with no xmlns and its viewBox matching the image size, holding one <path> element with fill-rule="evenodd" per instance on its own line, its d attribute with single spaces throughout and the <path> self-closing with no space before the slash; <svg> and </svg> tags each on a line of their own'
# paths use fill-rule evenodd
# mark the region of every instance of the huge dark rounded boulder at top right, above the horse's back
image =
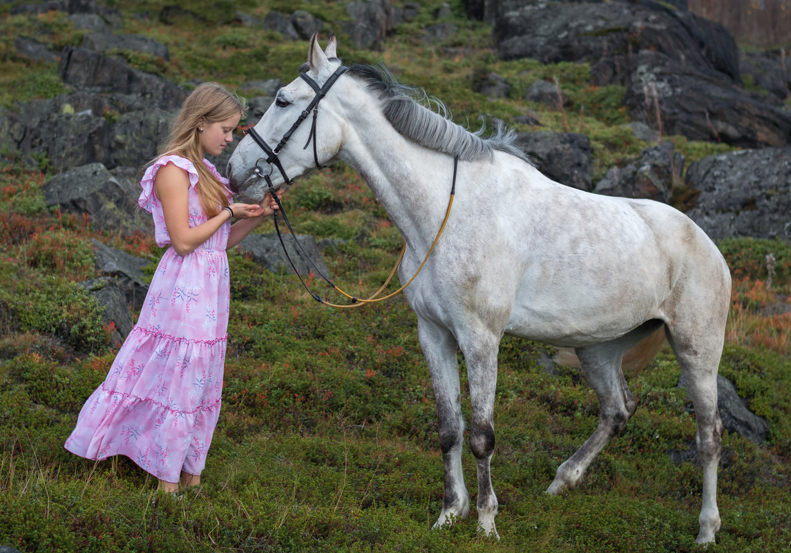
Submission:
<svg viewBox="0 0 791 553">
<path fill-rule="evenodd" d="M 619 81 L 631 57 L 655 51 L 699 73 L 739 82 L 736 42 L 717 23 L 659 2 L 534 2 L 498 14 L 501 59 L 604 63 Z"/>
</svg>

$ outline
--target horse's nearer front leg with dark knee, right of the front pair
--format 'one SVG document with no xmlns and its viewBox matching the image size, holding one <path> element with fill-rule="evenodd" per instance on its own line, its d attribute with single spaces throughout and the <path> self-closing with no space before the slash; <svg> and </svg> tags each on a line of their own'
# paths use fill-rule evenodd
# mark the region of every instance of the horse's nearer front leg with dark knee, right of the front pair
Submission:
<svg viewBox="0 0 791 553">
<path fill-rule="evenodd" d="M 491 482 L 494 455 L 494 395 L 497 389 L 498 337 L 477 335 L 474 344 L 463 347 L 470 386 L 470 449 L 478 468 L 478 527 L 486 536 L 500 535 L 494 525 L 498 513 L 497 495 Z"/>
</svg>

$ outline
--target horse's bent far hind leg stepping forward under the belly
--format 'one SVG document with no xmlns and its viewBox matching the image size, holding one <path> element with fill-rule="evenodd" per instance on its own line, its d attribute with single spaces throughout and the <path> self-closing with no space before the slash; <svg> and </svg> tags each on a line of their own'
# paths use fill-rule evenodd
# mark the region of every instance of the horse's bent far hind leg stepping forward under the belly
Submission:
<svg viewBox="0 0 791 553">
<path fill-rule="evenodd" d="M 585 469 L 626 427 L 637 409 L 637 401 L 623 378 L 623 354 L 661 325 L 660 321 L 649 321 L 618 340 L 575 350 L 582 374 L 599 398 L 599 426 L 582 447 L 558 467 L 547 494 L 558 495 L 577 487 Z"/>
</svg>

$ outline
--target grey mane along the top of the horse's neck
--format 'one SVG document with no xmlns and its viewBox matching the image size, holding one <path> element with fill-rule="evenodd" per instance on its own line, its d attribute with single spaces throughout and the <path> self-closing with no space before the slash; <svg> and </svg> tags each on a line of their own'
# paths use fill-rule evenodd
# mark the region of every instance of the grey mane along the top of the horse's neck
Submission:
<svg viewBox="0 0 791 553">
<path fill-rule="evenodd" d="M 458 156 L 460 160 L 479 160 L 501 150 L 531 163 L 524 150 L 514 144 L 516 133 L 498 125 L 490 137 L 481 137 L 483 129 L 471 133 L 446 116 L 448 110 L 440 100 L 429 98 L 421 88 L 396 81 L 384 66 L 354 64 L 349 73 L 368 83 L 372 92 L 379 92 L 382 113 L 395 130 L 426 148 Z M 420 101 L 435 103 L 437 111 L 422 106 Z"/>
</svg>

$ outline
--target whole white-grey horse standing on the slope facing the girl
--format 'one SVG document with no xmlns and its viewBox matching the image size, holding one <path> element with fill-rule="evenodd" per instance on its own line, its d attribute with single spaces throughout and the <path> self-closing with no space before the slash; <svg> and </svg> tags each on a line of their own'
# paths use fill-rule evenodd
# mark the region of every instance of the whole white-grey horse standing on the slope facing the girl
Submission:
<svg viewBox="0 0 791 553">
<path fill-rule="evenodd" d="M 233 190 L 259 201 L 267 190 L 260 138 L 275 144 L 289 132 L 296 143 L 282 148 L 278 160 L 270 157 L 284 170 L 271 175 L 275 187 L 283 186 L 286 174 L 305 175 L 317 164 L 350 164 L 403 235 L 399 276 L 406 282 L 437 236 L 458 159 L 456 201 L 445 231 L 405 290 L 437 398 L 445 495 L 435 526 L 469 512 L 456 348 L 467 362 L 479 527 L 498 536 L 490 458 L 503 334 L 574 348 L 600 401 L 596 431 L 560 465 L 547 490 L 556 495 L 576 487 L 623 431 L 637 406 L 621 370 L 624 352 L 664 327 L 698 423 L 703 490 L 697 540 L 712 542 L 720 528 L 716 379 L 731 291 L 717 247 L 668 205 L 589 194 L 547 179 L 513 145 L 513 133 L 471 134 L 413 100 L 420 91 L 400 85 L 387 70 L 351 66 L 340 74 L 335 49 L 334 36 L 326 51 L 313 37 L 305 76 L 279 90 L 255 125 L 255 141 L 245 137 L 231 156 L 228 175 Z M 325 84 L 326 96 L 316 106 L 316 90 Z M 308 112 L 320 106 L 313 127 L 294 128 L 312 101 Z"/>
</svg>

